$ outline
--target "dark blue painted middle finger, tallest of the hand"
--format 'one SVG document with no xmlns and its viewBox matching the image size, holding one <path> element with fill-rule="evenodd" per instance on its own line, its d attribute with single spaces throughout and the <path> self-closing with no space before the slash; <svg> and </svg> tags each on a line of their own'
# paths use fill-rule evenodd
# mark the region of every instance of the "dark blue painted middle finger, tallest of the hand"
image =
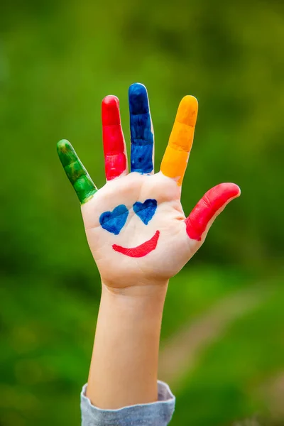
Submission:
<svg viewBox="0 0 284 426">
<path fill-rule="evenodd" d="M 153 172 L 154 135 L 147 89 L 141 83 L 129 87 L 131 172 Z"/>
</svg>

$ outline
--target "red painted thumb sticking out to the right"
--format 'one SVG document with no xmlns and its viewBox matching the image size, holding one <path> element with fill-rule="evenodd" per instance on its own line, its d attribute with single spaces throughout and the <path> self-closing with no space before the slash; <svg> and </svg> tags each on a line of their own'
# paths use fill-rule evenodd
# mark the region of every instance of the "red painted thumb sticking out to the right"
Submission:
<svg viewBox="0 0 284 426">
<path fill-rule="evenodd" d="M 234 183 L 220 183 L 203 195 L 190 216 L 185 219 L 187 235 L 201 241 L 202 234 L 231 200 L 239 197 L 241 190 Z"/>
</svg>

